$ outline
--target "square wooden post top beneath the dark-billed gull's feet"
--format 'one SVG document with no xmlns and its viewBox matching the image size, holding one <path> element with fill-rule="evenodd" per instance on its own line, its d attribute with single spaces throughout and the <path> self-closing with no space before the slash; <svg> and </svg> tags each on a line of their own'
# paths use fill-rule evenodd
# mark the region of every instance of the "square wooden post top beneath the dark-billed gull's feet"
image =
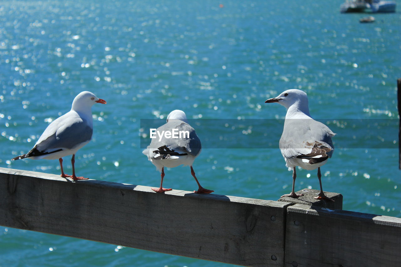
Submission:
<svg viewBox="0 0 401 267">
<path fill-rule="evenodd" d="M 300 196 L 299 198 L 291 198 L 289 196 L 284 196 L 283 198 L 280 198 L 278 201 L 290 202 L 294 204 L 304 204 L 309 206 L 318 206 L 322 208 L 335 208 L 337 210 L 342 210 L 342 194 L 333 192 L 324 192 L 324 194 L 327 197 L 334 200 L 333 202 L 324 199 L 322 200 L 315 199 L 314 197 L 317 196 L 319 192 L 320 190 L 304 188 L 296 192 L 298 194 L 304 194 L 303 196 Z"/>
</svg>

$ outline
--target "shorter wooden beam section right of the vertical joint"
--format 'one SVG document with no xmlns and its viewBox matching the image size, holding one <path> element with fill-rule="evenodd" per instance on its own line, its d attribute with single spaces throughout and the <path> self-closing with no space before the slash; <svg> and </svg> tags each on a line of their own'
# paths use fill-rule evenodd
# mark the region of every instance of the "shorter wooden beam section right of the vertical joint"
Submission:
<svg viewBox="0 0 401 267">
<path fill-rule="evenodd" d="M 285 266 L 401 263 L 401 218 L 296 204 L 286 224 Z"/>
</svg>

